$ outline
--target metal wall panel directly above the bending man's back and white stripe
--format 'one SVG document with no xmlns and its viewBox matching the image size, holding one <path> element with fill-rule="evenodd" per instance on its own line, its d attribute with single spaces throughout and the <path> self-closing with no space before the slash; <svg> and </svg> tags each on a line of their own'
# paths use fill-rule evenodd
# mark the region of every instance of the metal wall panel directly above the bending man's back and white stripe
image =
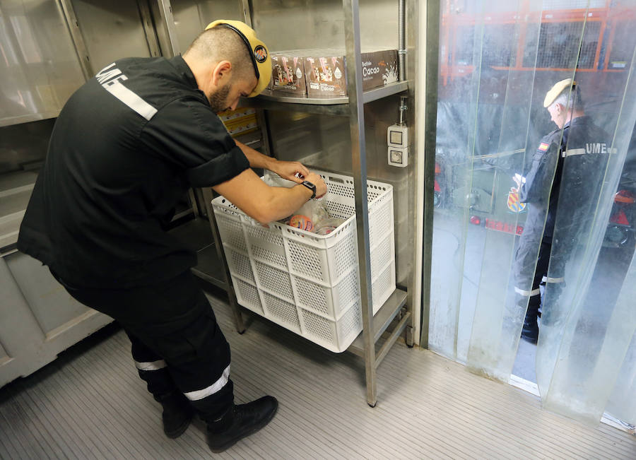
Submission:
<svg viewBox="0 0 636 460">
<path fill-rule="evenodd" d="M 136 1 L 72 0 L 93 72 L 122 57 L 150 57 Z"/>
</svg>

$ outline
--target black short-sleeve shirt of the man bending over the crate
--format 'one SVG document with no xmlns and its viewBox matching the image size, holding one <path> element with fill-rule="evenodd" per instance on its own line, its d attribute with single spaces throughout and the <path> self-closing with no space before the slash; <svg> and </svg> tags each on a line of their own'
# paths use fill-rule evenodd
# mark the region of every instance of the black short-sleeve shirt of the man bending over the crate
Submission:
<svg viewBox="0 0 636 460">
<path fill-rule="evenodd" d="M 80 287 L 171 278 L 196 264 L 163 230 L 177 201 L 247 167 L 182 57 L 115 61 L 61 110 L 18 249 Z"/>
</svg>

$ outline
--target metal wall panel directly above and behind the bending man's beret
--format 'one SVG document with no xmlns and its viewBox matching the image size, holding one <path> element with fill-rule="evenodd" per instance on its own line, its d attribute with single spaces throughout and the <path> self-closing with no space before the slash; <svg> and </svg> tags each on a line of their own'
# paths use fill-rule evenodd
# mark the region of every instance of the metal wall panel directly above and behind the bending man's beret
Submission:
<svg viewBox="0 0 636 460">
<path fill-rule="evenodd" d="M 172 16 L 175 18 L 175 28 L 179 49 L 186 51 L 192 40 L 202 30 L 217 19 L 245 20 L 242 5 L 235 1 L 196 1 L 196 0 L 172 0 Z"/>
</svg>

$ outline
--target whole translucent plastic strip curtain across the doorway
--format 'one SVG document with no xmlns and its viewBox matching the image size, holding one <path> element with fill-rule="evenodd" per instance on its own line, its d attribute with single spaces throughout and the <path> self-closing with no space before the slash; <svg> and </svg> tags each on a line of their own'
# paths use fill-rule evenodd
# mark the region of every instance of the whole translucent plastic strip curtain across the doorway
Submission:
<svg viewBox="0 0 636 460">
<path fill-rule="evenodd" d="M 634 425 L 636 205 L 613 199 L 636 192 L 636 0 L 447 1 L 441 21 L 429 346 L 507 382 L 541 291 L 546 408 Z M 578 88 L 566 102 L 584 115 L 564 130 L 543 99 L 565 78 Z M 553 154 L 535 202 L 522 203 L 514 177 L 555 129 L 557 146 L 565 133 L 563 151 L 579 155 Z M 550 282 L 535 290 L 546 240 Z"/>
</svg>

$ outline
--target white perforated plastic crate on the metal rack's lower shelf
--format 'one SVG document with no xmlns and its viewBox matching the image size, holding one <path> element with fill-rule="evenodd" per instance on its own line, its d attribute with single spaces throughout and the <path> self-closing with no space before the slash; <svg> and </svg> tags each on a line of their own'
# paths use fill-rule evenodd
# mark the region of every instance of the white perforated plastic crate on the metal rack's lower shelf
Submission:
<svg viewBox="0 0 636 460">
<path fill-rule="evenodd" d="M 240 305 L 337 353 L 362 330 L 353 178 L 317 172 L 327 184 L 329 235 L 259 225 L 230 201 L 212 201 Z M 373 314 L 395 290 L 393 188 L 367 181 Z"/>
</svg>

